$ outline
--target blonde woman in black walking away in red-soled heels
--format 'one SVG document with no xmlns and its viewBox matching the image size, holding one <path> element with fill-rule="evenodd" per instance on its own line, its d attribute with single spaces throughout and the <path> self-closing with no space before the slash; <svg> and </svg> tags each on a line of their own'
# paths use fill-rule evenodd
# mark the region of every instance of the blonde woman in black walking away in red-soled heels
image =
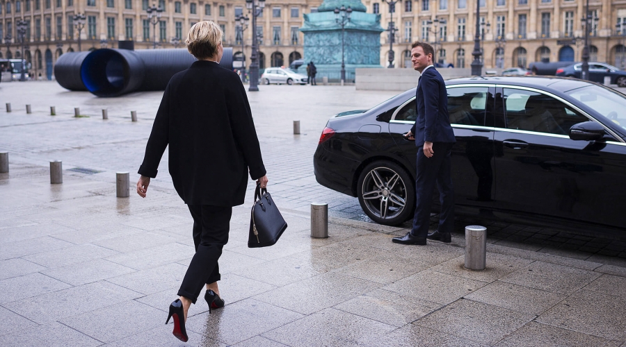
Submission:
<svg viewBox="0 0 626 347">
<path fill-rule="evenodd" d="M 138 172 L 137 193 L 145 198 L 169 145 L 172 182 L 193 217 L 195 255 L 167 320 L 174 319 L 172 333 L 182 341 L 188 340 L 187 312 L 204 285 L 209 312 L 224 307 L 218 259 L 228 242 L 232 206 L 246 195 L 248 171 L 261 187 L 268 182 L 246 90 L 236 73 L 218 64 L 222 35 L 211 21 L 191 27 L 185 43 L 198 61 L 168 83 Z"/>
</svg>

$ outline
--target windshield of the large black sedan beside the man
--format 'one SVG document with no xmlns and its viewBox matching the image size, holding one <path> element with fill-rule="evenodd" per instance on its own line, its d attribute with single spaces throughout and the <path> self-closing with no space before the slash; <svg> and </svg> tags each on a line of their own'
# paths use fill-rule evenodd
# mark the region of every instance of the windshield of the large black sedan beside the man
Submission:
<svg viewBox="0 0 626 347">
<path fill-rule="evenodd" d="M 565 92 L 572 98 L 626 129 L 626 95 L 599 85 L 590 85 Z"/>
</svg>

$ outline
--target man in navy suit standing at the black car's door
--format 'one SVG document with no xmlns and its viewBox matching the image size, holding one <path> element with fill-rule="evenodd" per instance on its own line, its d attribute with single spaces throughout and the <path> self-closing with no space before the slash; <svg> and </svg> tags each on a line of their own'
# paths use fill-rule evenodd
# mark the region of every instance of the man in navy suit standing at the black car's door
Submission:
<svg viewBox="0 0 626 347">
<path fill-rule="evenodd" d="M 397 244 L 426 244 L 426 238 L 451 242 L 454 225 L 454 192 L 451 178 L 451 152 L 456 139 L 448 115 L 446 83 L 433 66 L 435 51 L 426 42 L 415 42 L 411 49 L 413 69 L 422 76 L 417 83 L 417 120 L 404 136 L 415 139 L 417 146 L 417 178 L 415 180 L 415 216 L 413 228 L 403 237 L 394 237 Z M 439 188 L 441 213 L 439 229 L 428 234 L 431 202 L 435 183 Z"/>
</svg>

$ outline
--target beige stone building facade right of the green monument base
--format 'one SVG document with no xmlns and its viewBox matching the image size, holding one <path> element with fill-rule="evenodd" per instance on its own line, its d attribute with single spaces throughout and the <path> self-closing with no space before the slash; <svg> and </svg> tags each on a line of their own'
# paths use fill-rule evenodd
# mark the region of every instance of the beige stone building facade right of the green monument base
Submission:
<svg viewBox="0 0 626 347">
<path fill-rule="evenodd" d="M 431 42 L 435 60 L 470 67 L 474 57 L 476 1 L 480 1 L 483 67 L 528 67 L 529 63 L 581 61 L 584 47 L 584 0 L 403 0 L 390 6 L 364 0 L 368 12 L 380 13 L 381 25 L 393 21 L 395 67 L 410 67 L 411 42 Z M 626 1 L 589 0 L 590 61 L 624 69 Z M 581 21 L 583 19 L 583 21 Z M 388 65 L 389 33 L 381 35 L 380 61 Z M 484 70 L 483 70 L 484 71 Z"/>
</svg>

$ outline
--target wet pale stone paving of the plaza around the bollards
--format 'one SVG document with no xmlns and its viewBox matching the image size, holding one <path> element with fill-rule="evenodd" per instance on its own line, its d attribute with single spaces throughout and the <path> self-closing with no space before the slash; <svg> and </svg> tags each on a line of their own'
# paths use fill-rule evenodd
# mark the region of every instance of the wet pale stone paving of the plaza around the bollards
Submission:
<svg viewBox="0 0 626 347">
<path fill-rule="evenodd" d="M 452 244 L 392 244 L 406 226 L 368 223 L 356 198 L 318 185 L 312 154 L 330 115 L 395 93 L 287 85 L 249 97 L 289 228 L 273 247 L 248 248 L 248 189 L 220 258 L 227 305 L 211 314 L 202 298 L 192 305 L 183 344 L 164 323 L 193 256 L 192 220 L 167 153 L 147 198 L 115 197 L 116 171 L 136 183 L 161 94 L 0 85 L 0 151 L 10 153 L 0 174 L 0 346 L 626 346 L 626 244 L 484 222 L 485 271 L 463 268 L 463 226 L 483 221 L 459 218 Z M 89 117 L 74 118 L 74 107 Z M 49 183 L 50 160 L 63 160 L 62 185 Z M 328 239 L 309 236 L 312 202 L 330 205 Z"/>
</svg>

